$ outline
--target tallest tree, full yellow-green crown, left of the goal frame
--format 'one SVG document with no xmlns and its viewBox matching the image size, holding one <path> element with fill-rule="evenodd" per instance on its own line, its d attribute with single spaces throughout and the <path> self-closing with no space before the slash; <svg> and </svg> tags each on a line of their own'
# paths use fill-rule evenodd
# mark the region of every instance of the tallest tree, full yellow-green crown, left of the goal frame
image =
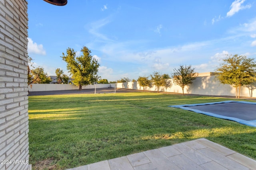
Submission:
<svg viewBox="0 0 256 170">
<path fill-rule="evenodd" d="M 82 90 L 82 86 L 98 81 L 97 73 L 100 66 L 87 47 L 83 47 L 81 52 L 82 55 L 79 57 L 76 57 L 76 52 L 70 48 L 67 49 L 66 55 L 62 53 L 62 59 L 67 63 L 68 72 L 72 75 L 72 82 L 79 86 L 79 90 Z"/>
</svg>

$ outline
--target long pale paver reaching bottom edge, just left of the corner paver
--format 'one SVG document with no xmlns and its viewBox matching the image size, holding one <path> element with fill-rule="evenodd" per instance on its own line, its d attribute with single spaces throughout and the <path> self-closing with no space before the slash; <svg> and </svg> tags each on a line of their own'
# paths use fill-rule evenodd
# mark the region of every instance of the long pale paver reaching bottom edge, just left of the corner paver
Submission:
<svg viewBox="0 0 256 170">
<path fill-rule="evenodd" d="M 208 156 L 210 159 L 214 160 L 218 164 L 221 164 L 227 169 L 230 170 L 249 170 L 246 166 L 243 166 L 242 164 L 228 158 L 227 156 L 224 156 L 215 150 L 212 150 L 210 148 L 200 149 L 198 150 L 202 154 Z"/>
</svg>

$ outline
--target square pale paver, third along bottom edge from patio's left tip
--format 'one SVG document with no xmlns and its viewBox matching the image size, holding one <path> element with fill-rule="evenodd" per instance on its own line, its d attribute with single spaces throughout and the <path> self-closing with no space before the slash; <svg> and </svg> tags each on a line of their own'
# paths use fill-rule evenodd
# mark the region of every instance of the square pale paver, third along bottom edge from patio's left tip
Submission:
<svg viewBox="0 0 256 170">
<path fill-rule="evenodd" d="M 111 170 L 134 170 L 126 156 L 108 160 Z"/>
</svg>

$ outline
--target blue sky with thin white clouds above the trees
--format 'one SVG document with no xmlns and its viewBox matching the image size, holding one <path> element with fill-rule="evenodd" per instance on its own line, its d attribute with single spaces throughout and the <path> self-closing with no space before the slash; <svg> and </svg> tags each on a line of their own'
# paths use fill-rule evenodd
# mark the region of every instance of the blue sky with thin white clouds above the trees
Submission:
<svg viewBox="0 0 256 170">
<path fill-rule="evenodd" d="M 62 53 L 88 47 L 109 81 L 171 74 L 181 64 L 214 72 L 226 54 L 256 58 L 256 0 L 28 1 L 28 55 L 66 74 Z"/>
</svg>

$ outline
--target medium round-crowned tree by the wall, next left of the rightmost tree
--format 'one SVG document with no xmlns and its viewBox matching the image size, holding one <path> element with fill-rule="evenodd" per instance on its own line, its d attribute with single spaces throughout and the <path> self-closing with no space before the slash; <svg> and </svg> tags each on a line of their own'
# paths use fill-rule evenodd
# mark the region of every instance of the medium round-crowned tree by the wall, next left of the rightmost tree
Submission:
<svg viewBox="0 0 256 170">
<path fill-rule="evenodd" d="M 184 96 L 184 87 L 188 84 L 191 84 L 193 80 L 196 79 L 196 72 L 194 72 L 195 68 L 192 68 L 191 65 L 184 66 L 180 65 L 178 69 L 174 68 L 174 72 L 172 73 L 172 78 L 174 84 L 180 86 L 182 88 L 182 94 Z"/>
</svg>

